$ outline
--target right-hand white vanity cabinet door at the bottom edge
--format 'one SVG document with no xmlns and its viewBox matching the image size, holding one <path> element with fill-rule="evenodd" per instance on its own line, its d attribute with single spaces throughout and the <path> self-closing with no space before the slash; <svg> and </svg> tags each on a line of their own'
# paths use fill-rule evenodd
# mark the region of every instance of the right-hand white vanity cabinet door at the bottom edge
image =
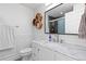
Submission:
<svg viewBox="0 0 86 64">
<path fill-rule="evenodd" d="M 74 59 L 72 59 L 67 55 L 64 55 L 60 52 L 54 52 L 54 60 L 56 61 L 75 61 Z"/>
</svg>

